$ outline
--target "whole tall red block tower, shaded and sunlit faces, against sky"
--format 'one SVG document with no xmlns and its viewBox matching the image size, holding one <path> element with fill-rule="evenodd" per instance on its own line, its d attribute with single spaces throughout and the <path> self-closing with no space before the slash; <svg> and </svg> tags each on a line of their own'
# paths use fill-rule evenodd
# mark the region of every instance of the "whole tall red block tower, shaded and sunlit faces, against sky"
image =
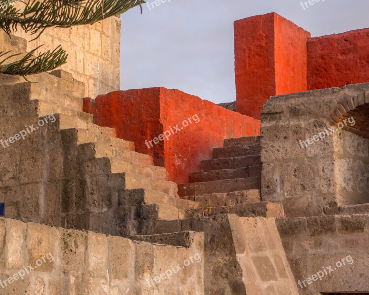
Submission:
<svg viewBox="0 0 369 295">
<path fill-rule="evenodd" d="M 236 21 L 234 34 L 238 112 L 260 119 L 269 97 L 307 89 L 310 33 L 268 13 Z"/>
</svg>

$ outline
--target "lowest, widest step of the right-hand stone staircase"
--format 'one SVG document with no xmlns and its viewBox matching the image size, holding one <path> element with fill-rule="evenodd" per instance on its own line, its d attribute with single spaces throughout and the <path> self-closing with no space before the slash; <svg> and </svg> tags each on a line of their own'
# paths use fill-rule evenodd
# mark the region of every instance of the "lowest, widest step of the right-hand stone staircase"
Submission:
<svg viewBox="0 0 369 295">
<path fill-rule="evenodd" d="M 283 206 L 277 203 L 257 202 L 223 207 L 208 207 L 186 211 L 188 217 L 236 214 L 240 217 L 284 217 Z"/>
</svg>

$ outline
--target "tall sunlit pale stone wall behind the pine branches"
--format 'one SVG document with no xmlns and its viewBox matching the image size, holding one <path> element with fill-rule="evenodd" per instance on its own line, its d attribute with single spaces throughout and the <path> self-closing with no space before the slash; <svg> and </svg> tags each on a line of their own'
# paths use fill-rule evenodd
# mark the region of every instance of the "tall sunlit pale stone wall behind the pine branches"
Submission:
<svg viewBox="0 0 369 295">
<path fill-rule="evenodd" d="M 111 17 L 93 25 L 73 28 L 50 28 L 36 40 L 18 30 L 14 34 L 30 41 L 26 50 L 40 45 L 40 51 L 47 51 L 62 45 L 69 54 L 67 64 L 60 67 L 85 83 L 84 96 L 96 97 L 120 89 L 120 32 L 118 17 Z M 4 42 L 0 33 L 0 44 Z M 30 78 L 31 79 L 31 78 Z"/>
</svg>

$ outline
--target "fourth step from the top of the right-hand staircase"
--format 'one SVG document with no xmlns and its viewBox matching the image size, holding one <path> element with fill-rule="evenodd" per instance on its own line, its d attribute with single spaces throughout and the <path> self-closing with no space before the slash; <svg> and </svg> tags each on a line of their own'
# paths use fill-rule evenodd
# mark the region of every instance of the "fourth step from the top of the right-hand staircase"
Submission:
<svg viewBox="0 0 369 295">
<path fill-rule="evenodd" d="M 262 165 L 237 169 L 211 170 L 194 172 L 189 175 L 189 182 L 206 182 L 225 179 L 247 178 L 261 176 Z"/>
</svg>

